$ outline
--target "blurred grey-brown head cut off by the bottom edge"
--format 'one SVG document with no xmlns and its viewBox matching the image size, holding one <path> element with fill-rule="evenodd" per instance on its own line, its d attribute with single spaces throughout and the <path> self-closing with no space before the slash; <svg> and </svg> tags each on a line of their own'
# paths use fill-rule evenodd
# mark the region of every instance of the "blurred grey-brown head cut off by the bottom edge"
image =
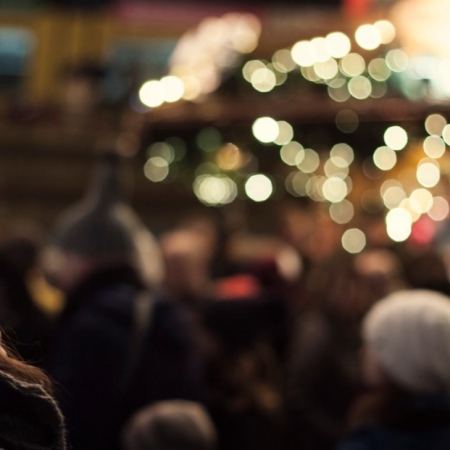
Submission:
<svg viewBox="0 0 450 450">
<path fill-rule="evenodd" d="M 216 431 L 198 403 L 168 400 L 136 413 L 125 427 L 125 450 L 213 450 Z"/>
</svg>

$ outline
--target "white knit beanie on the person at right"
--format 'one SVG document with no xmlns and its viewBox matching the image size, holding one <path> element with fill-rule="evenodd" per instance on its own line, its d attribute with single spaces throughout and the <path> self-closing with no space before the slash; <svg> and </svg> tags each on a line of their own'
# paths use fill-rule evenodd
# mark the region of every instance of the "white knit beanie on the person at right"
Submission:
<svg viewBox="0 0 450 450">
<path fill-rule="evenodd" d="M 372 307 L 363 339 L 393 381 L 413 392 L 450 390 L 450 298 L 395 292 Z"/>
</svg>

